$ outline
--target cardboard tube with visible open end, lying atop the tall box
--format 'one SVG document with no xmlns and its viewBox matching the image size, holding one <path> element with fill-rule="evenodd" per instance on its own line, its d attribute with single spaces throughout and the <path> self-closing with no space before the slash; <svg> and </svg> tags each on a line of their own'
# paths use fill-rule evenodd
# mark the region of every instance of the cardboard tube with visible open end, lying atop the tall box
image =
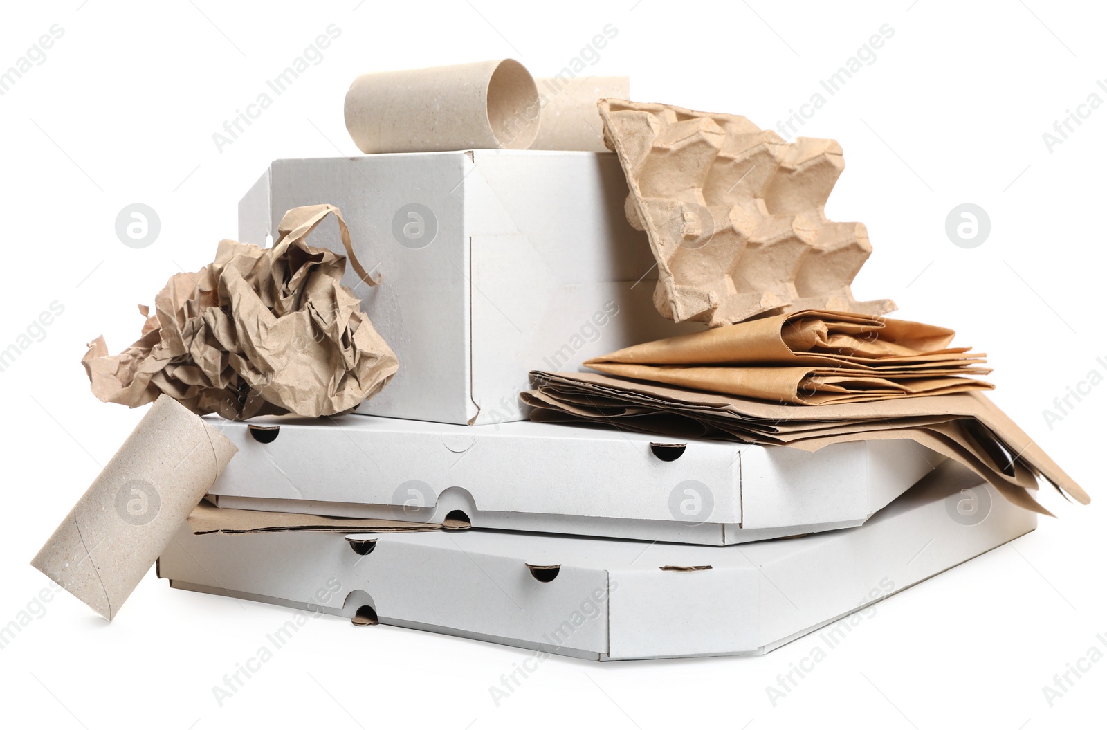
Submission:
<svg viewBox="0 0 1107 730">
<path fill-rule="evenodd" d="M 539 113 L 535 80 L 511 59 L 366 73 L 345 96 L 346 130 L 365 154 L 526 150 Z"/>
</svg>

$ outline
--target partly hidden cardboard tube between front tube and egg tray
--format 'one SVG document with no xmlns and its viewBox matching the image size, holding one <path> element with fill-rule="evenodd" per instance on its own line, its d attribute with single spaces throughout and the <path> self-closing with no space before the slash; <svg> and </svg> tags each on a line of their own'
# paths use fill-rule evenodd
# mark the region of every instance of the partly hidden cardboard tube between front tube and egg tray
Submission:
<svg viewBox="0 0 1107 730">
<path fill-rule="evenodd" d="M 628 76 L 535 79 L 541 102 L 541 124 L 531 150 L 610 152 L 603 144 L 603 120 L 596 103 L 606 97 L 630 99 Z"/>
</svg>

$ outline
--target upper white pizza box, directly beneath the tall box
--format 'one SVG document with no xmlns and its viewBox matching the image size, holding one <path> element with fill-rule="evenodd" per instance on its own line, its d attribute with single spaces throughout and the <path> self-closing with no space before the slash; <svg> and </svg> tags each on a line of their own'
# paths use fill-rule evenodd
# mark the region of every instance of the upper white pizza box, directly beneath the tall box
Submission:
<svg viewBox="0 0 1107 730">
<path fill-rule="evenodd" d="M 942 456 L 911 441 L 808 453 L 590 425 L 346 415 L 219 426 L 220 506 L 724 545 L 850 527 Z M 457 516 L 457 515 L 455 515 Z"/>
</svg>

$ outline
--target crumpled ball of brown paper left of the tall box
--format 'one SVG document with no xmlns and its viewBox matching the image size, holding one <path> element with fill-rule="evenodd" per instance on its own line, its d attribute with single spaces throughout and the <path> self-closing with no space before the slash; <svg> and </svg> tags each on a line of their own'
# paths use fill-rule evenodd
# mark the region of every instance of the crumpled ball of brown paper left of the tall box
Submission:
<svg viewBox="0 0 1107 730">
<path fill-rule="evenodd" d="M 363 281 L 350 233 L 332 205 L 292 208 L 272 248 L 221 240 L 216 260 L 176 274 L 155 299 L 142 337 L 107 354 L 103 337 L 81 360 L 102 401 L 131 408 L 159 393 L 194 413 L 244 420 L 333 415 L 379 392 L 399 363 L 342 286 L 346 257 L 304 243 L 328 215 Z"/>
</svg>

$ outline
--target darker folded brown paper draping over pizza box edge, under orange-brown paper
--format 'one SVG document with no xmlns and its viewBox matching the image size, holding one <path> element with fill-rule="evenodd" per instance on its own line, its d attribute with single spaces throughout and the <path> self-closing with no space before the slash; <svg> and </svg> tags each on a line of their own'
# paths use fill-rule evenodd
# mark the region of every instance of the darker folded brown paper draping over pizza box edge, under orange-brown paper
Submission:
<svg viewBox="0 0 1107 730">
<path fill-rule="evenodd" d="M 1088 494 L 980 391 L 830 405 L 777 404 L 593 373 L 531 372 L 521 394 L 539 422 L 592 422 L 680 438 L 817 450 L 830 443 L 911 439 L 965 464 L 1015 504 L 1035 475 L 1082 504 Z M 592 399 L 596 399 L 592 404 Z"/>
</svg>

